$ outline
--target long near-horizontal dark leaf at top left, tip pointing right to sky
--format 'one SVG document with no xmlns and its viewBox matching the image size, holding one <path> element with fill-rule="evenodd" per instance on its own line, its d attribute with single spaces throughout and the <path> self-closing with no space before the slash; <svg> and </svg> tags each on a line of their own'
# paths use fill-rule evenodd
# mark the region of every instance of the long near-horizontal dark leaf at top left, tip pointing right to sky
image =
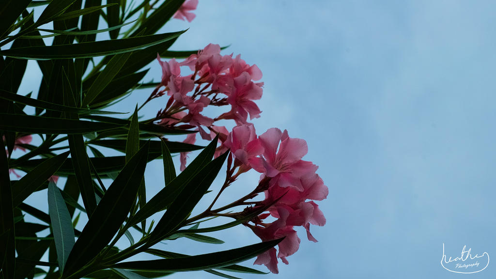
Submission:
<svg viewBox="0 0 496 279">
<path fill-rule="evenodd" d="M 0 55 L 32 60 L 89 58 L 143 49 L 172 40 L 185 31 L 149 36 L 57 46 L 35 46 L 0 50 Z"/>
</svg>

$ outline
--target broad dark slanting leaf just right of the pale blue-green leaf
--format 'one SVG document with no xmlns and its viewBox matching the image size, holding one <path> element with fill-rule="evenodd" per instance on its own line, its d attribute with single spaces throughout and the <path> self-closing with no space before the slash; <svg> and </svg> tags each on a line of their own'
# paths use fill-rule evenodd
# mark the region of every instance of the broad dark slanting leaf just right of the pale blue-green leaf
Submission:
<svg viewBox="0 0 496 279">
<path fill-rule="evenodd" d="M 134 202 L 146 166 L 145 144 L 124 166 L 74 244 L 63 275 L 86 265 L 112 240 Z"/>
</svg>

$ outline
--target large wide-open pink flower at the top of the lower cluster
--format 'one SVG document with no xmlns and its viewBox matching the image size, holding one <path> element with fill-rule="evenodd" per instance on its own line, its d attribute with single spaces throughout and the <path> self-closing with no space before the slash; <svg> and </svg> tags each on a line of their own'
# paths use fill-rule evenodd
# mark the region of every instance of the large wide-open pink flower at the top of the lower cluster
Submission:
<svg viewBox="0 0 496 279">
<path fill-rule="evenodd" d="M 272 177 L 270 186 L 279 184 L 284 188 L 294 187 L 303 191 L 300 178 L 314 173 L 318 168 L 312 162 L 302 160 L 308 152 L 307 142 L 304 139 L 290 138 L 288 131 L 281 133 L 277 128 L 267 130 L 259 139 L 264 152 L 262 157 L 250 161 L 251 167 Z"/>
</svg>

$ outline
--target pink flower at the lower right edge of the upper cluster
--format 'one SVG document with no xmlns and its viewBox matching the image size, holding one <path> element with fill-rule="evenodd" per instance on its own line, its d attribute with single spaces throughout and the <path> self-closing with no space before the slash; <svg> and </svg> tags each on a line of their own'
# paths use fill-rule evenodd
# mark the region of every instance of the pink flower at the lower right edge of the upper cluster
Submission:
<svg viewBox="0 0 496 279">
<path fill-rule="evenodd" d="M 248 114 L 250 119 L 260 117 L 262 111 L 252 100 L 259 100 L 262 97 L 262 88 L 251 81 L 248 72 L 235 77 L 232 92 L 226 92 L 226 94 L 231 111 L 222 114 L 219 119 L 234 119 L 237 125 L 242 125 L 247 123 Z"/>
</svg>

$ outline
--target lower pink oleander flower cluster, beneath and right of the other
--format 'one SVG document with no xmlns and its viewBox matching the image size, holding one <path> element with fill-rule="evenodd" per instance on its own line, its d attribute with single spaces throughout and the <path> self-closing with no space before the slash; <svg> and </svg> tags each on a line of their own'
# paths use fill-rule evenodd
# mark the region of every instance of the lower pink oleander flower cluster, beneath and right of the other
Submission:
<svg viewBox="0 0 496 279">
<path fill-rule="evenodd" d="M 328 189 L 315 173 L 317 166 L 302 160 L 307 154 L 307 142 L 294 139 L 288 132 L 271 128 L 259 137 L 253 125 L 241 125 L 233 129 L 219 149 L 230 149 L 235 157 L 234 166 L 240 172 L 253 168 L 261 173 L 260 185 L 256 192 L 264 192 L 265 200 L 247 208 L 245 214 L 259 207 L 268 207 L 268 213 L 258 215 L 245 225 L 263 241 L 285 237 L 278 245 L 279 253 L 271 248 L 258 256 L 255 264 L 265 265 L 272 273 L 278 273 L 278 258 L 288 264 L 286 257 L 294 254 L 300 246 L 294 226 L 303 226 L 309 240 L 317 240 L 310 233 L 310 224 L 323 226 L 325 217 L 312 200 L 321 201 L 327 197 Z M 265 182 L 265 183 L 262 183 Z M 277 218 L 268 223 L 264 220 Z"/>
</svg>

